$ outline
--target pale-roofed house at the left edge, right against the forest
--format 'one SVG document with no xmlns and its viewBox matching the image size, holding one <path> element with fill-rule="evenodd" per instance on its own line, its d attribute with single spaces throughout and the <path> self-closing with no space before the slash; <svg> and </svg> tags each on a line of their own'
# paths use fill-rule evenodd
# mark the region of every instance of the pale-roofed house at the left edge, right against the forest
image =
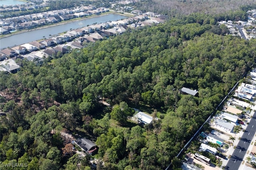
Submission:
<svg viewBox="0 0 256 170">
<path fill-rule="evenodd" d="M 16 73 L 20 70 L 20 66 L 13 59 L 8 59 L 0 62 L 0 71 Z"/>
</svg>

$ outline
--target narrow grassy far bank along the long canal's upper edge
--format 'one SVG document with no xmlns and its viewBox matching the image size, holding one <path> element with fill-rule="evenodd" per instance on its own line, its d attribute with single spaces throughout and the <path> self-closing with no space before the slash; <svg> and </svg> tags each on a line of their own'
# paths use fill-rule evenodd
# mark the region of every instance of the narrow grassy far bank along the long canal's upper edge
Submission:
<svg viewBox="0 0 256 170">
<path fill-rule="evenodd" d="M 121 14 L 121 13 L 118 13 L 118 12 L 108 12 L 108 14 L 102 14 L 102 15 L 96 15 L 96 16 L 89 16 L 88 18 L 80 18 L 78 20 L 74 20 L 74 21 L 81 21 L 81 20 L 86 20 L 86 19 L 91 19 L 91 18 L 97 18 L 97 17 L 100 17 L 100 16 L 106 16 L 106 15 L 109 15 L 109 14 L 118 14 L 118 15 L 123 15 L 123 16 L 127 16 L 125 14 Z M 0 37 L 0 39 L 4 39 L 6 37 L 11 37 L 13 35 L 17 35 L 17 34 L 20 34 L 20 33 L 25 33 L 25 32 L 28 32 L 28 31 L 33 31 L 33 30 L 38 30 L 38 29 L 44 29 L 44 28 L 48 28 L 48 27 L 54 27 L 54 26 L 57 26 L 57 25 L 63 25 L 65 23 L 71 23 L 71 22 L 74 22 L 74 21 L 66 21 L 66 22 L 62 22 L 62 23 L 56 23 L 56 24 L 52 24 L 52 25 L 45 25 L 43 27 L 37 27 L 37 28 L 34 28 L 34 29 L 28 29 L 28 30 L 24 30 L 24 31 L 19 31 L 17 33 L 11 33 L 9 35 L 5 35 L 3 37 Z"/>
</svg>

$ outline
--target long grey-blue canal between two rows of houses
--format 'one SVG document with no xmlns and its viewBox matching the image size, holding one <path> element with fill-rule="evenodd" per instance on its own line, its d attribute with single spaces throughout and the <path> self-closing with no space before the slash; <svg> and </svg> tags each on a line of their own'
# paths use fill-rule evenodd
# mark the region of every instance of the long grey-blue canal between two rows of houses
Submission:
<svg viewBox="0 0 256 170">
<path fill-rule="evenodd" d="M 15 45 L 22 45 L 25 43 L 29 43 L 31 41 L 43 39 L 44 37 L 48 38 L 51 35 L 57 35 L 65 31 L 70 31 L 70 29 L 86 27 L 87 25 L 92 25 L 93 23 L 104 23 L 108 21 L 121 20 L 123 18 L 127 18 L 127 17 L 118 15 L 118 14 L 108 14 L 105 16 L 97 16 L 95 18 L 84 19 L 80 21 L 73 21 L 70 23 L 64 23 L 64 24 L 56 25 L 52 27 L 46 27 L 42 29 L 27 31 L 24 33 L 12 35 L 10 37 L 5 37 L 0 39 L 0 49 L 13 47 Z"/>
</svg>

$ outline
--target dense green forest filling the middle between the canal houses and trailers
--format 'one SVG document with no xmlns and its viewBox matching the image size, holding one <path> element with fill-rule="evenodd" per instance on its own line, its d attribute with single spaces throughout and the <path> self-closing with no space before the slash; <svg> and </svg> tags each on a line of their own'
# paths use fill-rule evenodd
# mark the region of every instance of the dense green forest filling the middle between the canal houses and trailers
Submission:
<svg viewBox="0 0 256 170">
<path fill-rule="evenodd" d="M 90 169 L 90 157 L 75 154 L 62 138 L 69 131 L 96 142 L 99 170 L 160 170 L 171 161 L 179 169 L 174 156 L 255 63 L 256 40 L 224 36 L 226 27 L 214 17 L 172 18 L 41 66 L 17 60 L 18 73 L 0 73 L 7 114 L 0 119 L 1 163 Z M 182 87 L 199 96 L 181 94 Z M 131 107 L 151 114 L 152 127 L 128 120 Z"/>
</svg>

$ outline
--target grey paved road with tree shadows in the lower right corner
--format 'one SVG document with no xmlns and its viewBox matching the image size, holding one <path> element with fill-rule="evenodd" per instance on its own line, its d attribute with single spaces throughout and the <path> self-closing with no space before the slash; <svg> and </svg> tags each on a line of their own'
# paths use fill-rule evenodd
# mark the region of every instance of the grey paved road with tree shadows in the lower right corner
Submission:
<svg viewBox="0 0 256 170">
<path fill-rule="evenodd" d="M 234 150 L 224 170 L 238 170 L 244 158 L 244 155 L 246 154 L 246 151 L 250 146 L 250 143 L 252 142 L 252 138 L 254 137 L 255 131 L 256 131 L 256 112 L 254 112 L 254 115 L 250 120 L 250 124 L 247 126 L 246 131 L 242 135 L 241 140 L 236 146 L 236 149 Z"/>
</svg>

